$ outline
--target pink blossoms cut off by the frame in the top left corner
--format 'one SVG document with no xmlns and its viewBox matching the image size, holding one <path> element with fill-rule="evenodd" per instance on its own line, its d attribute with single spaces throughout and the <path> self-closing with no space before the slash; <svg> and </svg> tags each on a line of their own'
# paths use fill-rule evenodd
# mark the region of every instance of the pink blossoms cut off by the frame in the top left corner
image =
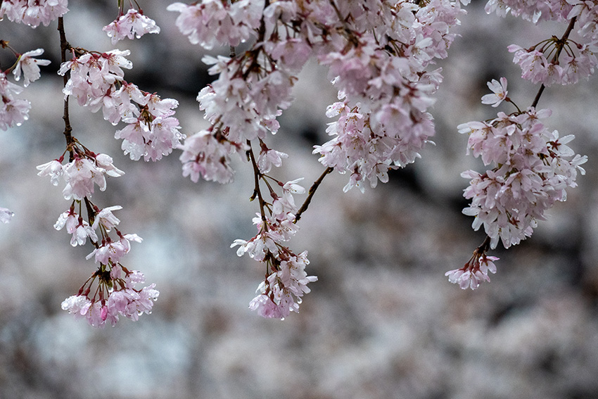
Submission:
<svg viewBox="0 0 598 399">
<path fill-rule="evenodd" d="M 0 4 L 0 18 L 6 15 L 8 20 L 30 27 L 48 26 L 68 11 L 68 0 L 3 0 Z"/>
</svg>

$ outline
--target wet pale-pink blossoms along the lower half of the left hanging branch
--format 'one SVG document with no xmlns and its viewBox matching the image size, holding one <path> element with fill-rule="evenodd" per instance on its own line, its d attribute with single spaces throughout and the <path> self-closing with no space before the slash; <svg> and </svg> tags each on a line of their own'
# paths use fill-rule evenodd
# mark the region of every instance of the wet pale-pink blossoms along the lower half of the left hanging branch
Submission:
<svg viewBox="0 0 598 399">
<path fill-rule="evenodd" d="M 136 289 L 137 283 L 144 282 L 143 274 L 136 270 L 129 272 L 120 263 L 131 248 L 131 241 L 141 243 L 143 240 L 137 234 L 122 234 L 116 228 L 120 220 L 113 211 L 122 209 L 120 205 L 99 209 L 90 200 L 95 186 L 106 189 L 105 175 L 119 177 L 124 172 L 113 165 L 110 156 L 81 151 L 78 146 L 69 163 L 63 165 L 61 157 L 39 165 L 37 169 L 38 175 L 48 176 L 55 186 L 62 177 L 65 181 L 63 195 L 67 200 L 72 199 L 70 208 L 58 217 L 54 228 L 65 228 L 71 234 L 72 246 L 83 246 L 89 238 L 95 249 L 87 255 L 87 259 L 94 258 L 99 264 L 98 270 L 83 284 L 79 293 L 67 298 L 62 308 L 77 317 L 86 317 L 94 327 L 104 327 L 106 322 L 114 325 L 119 315 L 136 320 L 142 313 L 151 312 L 153 300 L 158 298 L 155 284 Z M 85 204 L 88 220 L 82 216 L 82 203 Z M 118 239 L 110 237 L 112 229 Z M 91 285 L 96 280 L 97 287 L 92 291 Z M 90 298 L 91 292 L 94 294 Z"/>
</svg>

